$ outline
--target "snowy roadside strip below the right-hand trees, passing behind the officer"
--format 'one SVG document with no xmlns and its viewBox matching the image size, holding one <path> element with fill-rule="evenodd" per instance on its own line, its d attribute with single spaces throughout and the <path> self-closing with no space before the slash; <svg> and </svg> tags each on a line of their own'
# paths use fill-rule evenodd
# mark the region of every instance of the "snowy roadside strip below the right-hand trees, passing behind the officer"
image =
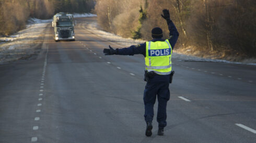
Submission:
<svg viewBox="0 0 256 143">
<path fill-rule="evenodd" d="M 106 31 L 99 30 L 99 26 L 97 25 L 97 22 L 90 22 L 86 23 L 86 29 L 90 30 L 91 32 L 97 34 L 98 36 L 107 39 L 109 41 L 113 41 L 115 43 L 119 43 L 124 46 L 130 46 L 130 45 L 136 45 L 140 43 L 144 43 L 146 41 L 144 40 L 134 40 L 131 38 L 122 38 L 119 35 L 115 35 L 113 33 L 109 33 Z M 174 50 L 175 51 L 175 50 Z M 191 55 L 185 55 L 173 52 L 172 58 L 179 59 L 180 61 L 191 61 L 191 62 L 217 62 L 217 63 L 231 63 L 231 64 L 247 64 L 247 65 L 255 65 L 256 66 L 256 60 L 255 59 L 247 59 L 243 62 L 230 62 L 222 59 L 210 59 L 210 58 L 201 58 Z"/>
</svg>

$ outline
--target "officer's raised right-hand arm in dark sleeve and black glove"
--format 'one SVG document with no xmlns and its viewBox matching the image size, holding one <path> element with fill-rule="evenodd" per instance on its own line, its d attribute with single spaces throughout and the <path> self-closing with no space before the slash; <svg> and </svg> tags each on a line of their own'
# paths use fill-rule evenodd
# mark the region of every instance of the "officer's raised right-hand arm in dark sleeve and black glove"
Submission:
<svg viewBox="0 0 256 143">
<path fill-rule="evenodd" d="M 177 40 L 178 40 L 178 37 L 179 37 L 179 32 L 176 28 L 176 26 L 174 25 L 174 23 L 171 21 L 170 19 L 170 13 L 169 13 L 169 10 L 167 9 L 164 9 L 162 10 L 162 13 L 164 13 L 164 15 L 161 15 L 162 18 L 164 18 L 168 24 L 168 29 L 170 31 L 169 33 L 169 42 L 171 44 L 171 47 L 172 47 L 172 50 L 174 48 L 174 45 L 176 44 Z"/>
</svg>

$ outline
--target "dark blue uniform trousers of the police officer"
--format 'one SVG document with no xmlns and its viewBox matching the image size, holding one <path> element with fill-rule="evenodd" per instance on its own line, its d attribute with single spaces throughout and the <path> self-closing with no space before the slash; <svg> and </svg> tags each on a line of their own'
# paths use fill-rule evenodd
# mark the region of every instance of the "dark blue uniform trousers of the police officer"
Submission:
<svg viewBox="0 0 256 143">
<path fill-rule="evenodd" d="M 153 121 L 154 104 L 158 100 L 157 122 L 158 127 L 165 127 L 166 123 L 166 106 L 170 99 L 169 81 L 168 82 L 147 82 L 144 90 L 145 121 Z"/>
</svg>

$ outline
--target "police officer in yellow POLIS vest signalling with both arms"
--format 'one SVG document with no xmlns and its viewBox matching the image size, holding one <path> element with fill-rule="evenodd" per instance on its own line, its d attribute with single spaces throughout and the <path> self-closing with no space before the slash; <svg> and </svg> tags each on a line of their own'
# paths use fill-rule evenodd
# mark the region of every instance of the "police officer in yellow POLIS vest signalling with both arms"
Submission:
<svg viewBox="0 0 256 143">
<path fill-rule="evenodd" d="M 152 29 L 153 40 L 151 41 L 115 50 L 109 45 L 109 49 L 103 50 L 105 55 L 144 55 L 146 66 L 144 80 L 147 81 L 143 97 L 145 105 L 144 117 L 147 124 L 146 136 L 152 135 L 152 121 L 156 97 L 158 100 L 158 135 L 164 135 L 164 127 L 167 125 L 166 106 L 167 101 L 170 99 L 169 82 L 171 74 L 171 54 L 179 37 L 179 32 L 170 19 L 169 10 L 164 9 L 162 12 L 164 15 L 161 16 L 167 21 L 170 31 L 169 39 L 162 39 L 162 30 L 156 27 Z"/>
</svg>

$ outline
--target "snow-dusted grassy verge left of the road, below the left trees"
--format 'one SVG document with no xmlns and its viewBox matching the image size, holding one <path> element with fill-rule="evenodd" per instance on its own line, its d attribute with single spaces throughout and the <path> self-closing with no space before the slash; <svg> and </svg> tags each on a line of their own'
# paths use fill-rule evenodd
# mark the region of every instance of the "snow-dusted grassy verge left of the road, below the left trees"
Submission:
<svg viewBox="0 0 256 143">
<path fill-rule="evenodd" d="M 40 52 L 45 27 L 48 23 L 34 22 L 10 37 L 0 38 L 0 64 L 18 59 L 28 59 Z"/>
</svg>

